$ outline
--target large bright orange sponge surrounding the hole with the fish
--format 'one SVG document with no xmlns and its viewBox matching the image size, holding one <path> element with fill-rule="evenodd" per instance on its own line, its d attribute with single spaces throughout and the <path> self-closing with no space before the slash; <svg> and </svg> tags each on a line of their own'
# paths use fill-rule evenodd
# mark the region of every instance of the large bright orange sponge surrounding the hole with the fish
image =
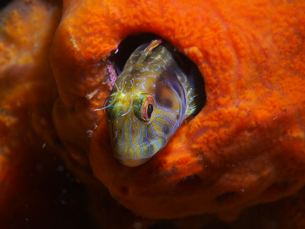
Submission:
<svg viewBox="0 0 305 229">
<path fill-rule="evenodd" d="M 303 1 L 64 1 L 50 56 L 60 138 L 115 199 L 149 218 L 232 219 L 294 193 L 305 184 L 304 12 Z M 102 111 L 93 110 L 110 93 L 110 52 L 143 32 L 197 64 L 207 102 L 130 168 L 113 158 Z"/>
</svg>

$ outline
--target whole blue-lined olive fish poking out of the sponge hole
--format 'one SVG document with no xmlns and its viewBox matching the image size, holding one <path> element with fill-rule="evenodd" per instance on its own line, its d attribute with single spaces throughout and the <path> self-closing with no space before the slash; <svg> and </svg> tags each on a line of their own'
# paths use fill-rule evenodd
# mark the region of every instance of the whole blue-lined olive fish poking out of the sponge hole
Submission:
<svg viewBox="0 0 305 229">
<path fill-rule="evenodd" d="M 113 155 L 130 167 L 165 147 L 183 120 L 202 108 L 193 74 L 187 77 L 160 43 L 153 40 L 131 54 L 101 108 Z"/>
</svg>

